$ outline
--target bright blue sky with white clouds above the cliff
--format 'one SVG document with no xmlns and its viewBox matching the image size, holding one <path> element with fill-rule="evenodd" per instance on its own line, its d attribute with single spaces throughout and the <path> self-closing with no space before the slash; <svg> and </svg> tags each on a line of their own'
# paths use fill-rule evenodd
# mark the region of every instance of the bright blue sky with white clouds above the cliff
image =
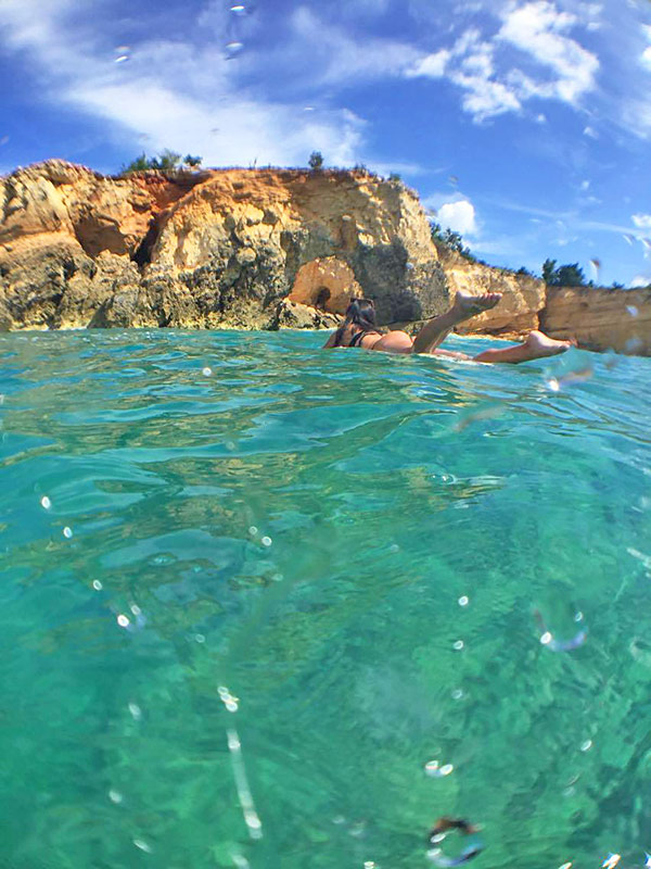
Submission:
<svg viewBox="0 0 651 869">
<path fill-rule="evenodd" d="M 0 76 L 2 173 L 320 150 L 489 263 L 651 282 L 649 0 L 1 0 Z"/>
</svg>

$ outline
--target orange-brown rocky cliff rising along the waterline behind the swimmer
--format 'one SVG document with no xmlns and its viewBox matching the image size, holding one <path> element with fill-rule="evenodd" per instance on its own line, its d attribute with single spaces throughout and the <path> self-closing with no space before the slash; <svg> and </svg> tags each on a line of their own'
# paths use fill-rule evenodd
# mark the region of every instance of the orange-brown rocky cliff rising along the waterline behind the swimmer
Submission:
<svg viewBox="0 0 651 869">
<path fill-rule="evenodd" d="M 541 327 L 651 354 L 648 292 L 546 288 L 470 262 L 434 245 L 413 192 L 365 171 L 112 178 L 52 160 L 1 178 L 0 203 L 0 329 L 332 327 L 354 295 L 408 324 L 463 289 L 503 294 L 465 331 Z"/>
</svg>

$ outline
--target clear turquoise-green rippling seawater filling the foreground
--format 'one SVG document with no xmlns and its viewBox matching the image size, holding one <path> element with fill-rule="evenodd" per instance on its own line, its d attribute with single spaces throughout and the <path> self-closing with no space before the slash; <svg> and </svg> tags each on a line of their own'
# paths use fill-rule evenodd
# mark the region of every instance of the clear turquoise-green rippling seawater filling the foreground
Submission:
<svg viewBox="0 0 651 869">
<path fill-rule="evenodd" d="M 643 865 L 651 361 L 321 342 L 0 337 L 0 864 Z"/>
</svg>

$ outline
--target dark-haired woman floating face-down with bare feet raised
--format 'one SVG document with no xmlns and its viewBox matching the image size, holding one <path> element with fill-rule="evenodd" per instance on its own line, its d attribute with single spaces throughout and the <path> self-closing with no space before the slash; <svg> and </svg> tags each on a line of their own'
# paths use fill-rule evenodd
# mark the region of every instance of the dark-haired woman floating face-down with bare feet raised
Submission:
<svg viewBox="0 0 651 869">
<path fill-rule="evenodd" d="M 343 324 L 323 347 L 324 349 L 361 347 L 365 350 L 380 350 L 385 353 L 430 353 L 451 358 L 473 360 L 473 362 L 511 364 L 556 356 L 573 347 L 572 341 L 556 341 L 544 332 L 535 330 L 529 332 L 521 344 L 484 350 L 476 356 L 439 350 L 438 345 L 455 326 L 483 311 L 489 311 L 500 299 L 499 292 L 486 292 L 481 295 L 458 292 L 449 311 L 425 323 L 414 339 L 404 331 L 381 331 L 375 319 L 373 302 L 370 299 L 354 299 L 346 308 Z"/>
</svg>

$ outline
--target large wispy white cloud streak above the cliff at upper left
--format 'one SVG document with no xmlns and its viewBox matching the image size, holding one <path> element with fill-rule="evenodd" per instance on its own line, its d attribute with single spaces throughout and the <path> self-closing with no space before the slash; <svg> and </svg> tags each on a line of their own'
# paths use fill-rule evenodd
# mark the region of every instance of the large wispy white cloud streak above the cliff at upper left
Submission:
<svg viewBox="0 0 651 869">
<path fill-rule="evenodd" d="M 75 12 L 75 0 L 2 0 L 0 28 L 5 46 L 28 53 L 47 81 L 46 96 L 112 122 L 116 139 L 130 130 L 148 150 L 191 150 L 217 165 L 302 165 L 314 149 L 332 164 L 358 156 L 363 123 L 352 112 L 307 114 L 293 103 L 254 98 L 240 85 L 255 60 L 242 55 L 235 64 L 225 56 L 222 3 L 213 0 L 200 13 L 212 42 L 145 39 L 119 65 L 106 49 L 110 37 L 90 36 Z"/>
</svg>

